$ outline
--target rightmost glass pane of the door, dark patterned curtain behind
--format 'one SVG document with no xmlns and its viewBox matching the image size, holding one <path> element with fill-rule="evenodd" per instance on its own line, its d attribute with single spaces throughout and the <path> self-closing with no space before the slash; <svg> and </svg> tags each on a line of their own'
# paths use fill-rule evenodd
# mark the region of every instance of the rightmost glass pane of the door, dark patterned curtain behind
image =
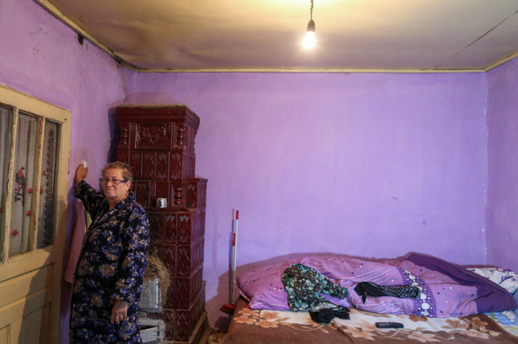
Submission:
<svg viewBox="0 0 518 344">
<path fill-rule="evenodd" d="M 45 119 L 43 134 L 42 180 L 39 195 L 39 220 L 36 248 L 52 244 L 59 124 Z"/>
</svg>

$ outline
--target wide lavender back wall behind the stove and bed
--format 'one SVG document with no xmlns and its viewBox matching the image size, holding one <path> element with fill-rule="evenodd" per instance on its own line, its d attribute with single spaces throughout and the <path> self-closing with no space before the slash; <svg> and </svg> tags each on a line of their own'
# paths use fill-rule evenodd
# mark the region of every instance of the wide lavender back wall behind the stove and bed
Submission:
<svg viewBox="0 0 518 344">
<path fill-rule="evenodd" d="M 211 324 L 236 209 L 238 274 L 305 252 L 484 263 L 484 74 L 134 74 L 128 95 L 201 117 Z"/>
</svg>

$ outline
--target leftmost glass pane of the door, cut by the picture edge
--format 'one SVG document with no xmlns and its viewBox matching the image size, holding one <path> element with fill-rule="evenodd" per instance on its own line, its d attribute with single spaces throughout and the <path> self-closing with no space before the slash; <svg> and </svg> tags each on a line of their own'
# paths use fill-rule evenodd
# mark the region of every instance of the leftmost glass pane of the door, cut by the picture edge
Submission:
<svg viewBox="0 0 518 344">
<path fill-rule="evenodd" d="M 0 105 L 0 261 L 4 260 L 5 207 L 7 197 L 7 174 L 11 152 L 11 127 L 13 109 Z"/>
</svg>

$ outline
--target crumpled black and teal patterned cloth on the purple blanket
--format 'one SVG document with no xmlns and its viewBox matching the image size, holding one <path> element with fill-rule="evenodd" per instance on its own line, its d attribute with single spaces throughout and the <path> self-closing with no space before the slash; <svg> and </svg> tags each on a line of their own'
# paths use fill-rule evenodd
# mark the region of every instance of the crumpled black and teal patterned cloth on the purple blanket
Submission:
<svg viewBox="0 0 518 344">
<path fill-rule="evenodd" d="M 346 307 L 335 305 L 320 296 L 320 293 L 324 293 L 336 298 L 346 298 L 348 290 L 331 282 L 311 267 L 302 264 L 291 265 L 284 270 L 282 283 L 288 293 L 289 309 L 293 312 L 318 312 L 323 309 L 348 312 Z"/>
</svg>

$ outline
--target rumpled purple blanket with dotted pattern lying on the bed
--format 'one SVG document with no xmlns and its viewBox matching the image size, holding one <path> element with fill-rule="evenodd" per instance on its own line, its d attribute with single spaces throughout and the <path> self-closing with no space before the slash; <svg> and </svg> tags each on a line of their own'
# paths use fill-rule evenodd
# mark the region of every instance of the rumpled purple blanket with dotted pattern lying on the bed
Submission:
<svg viewBox="0 0 518 344">
<path fill-rule="evenodd" d="M 501 312 L 518 307 L 511 293 L 464 267 L 420 253 L 403 258 L 369 261 L 347 256 L 305 256 L 255 269 L 238 278 L 238 286 L 253 309 L 289 310 L 281 277 L 293 264 L 312 267 L 332 282 L 345 286 L 348 298 L 322 294 L 336 305 L 377 313 L 426 317 L 458 317 Z M 417 299 L 367 297 L 355 293 L 359 282 L 382 286 L 412 285 L 421 290 Z"/>
</svg>

